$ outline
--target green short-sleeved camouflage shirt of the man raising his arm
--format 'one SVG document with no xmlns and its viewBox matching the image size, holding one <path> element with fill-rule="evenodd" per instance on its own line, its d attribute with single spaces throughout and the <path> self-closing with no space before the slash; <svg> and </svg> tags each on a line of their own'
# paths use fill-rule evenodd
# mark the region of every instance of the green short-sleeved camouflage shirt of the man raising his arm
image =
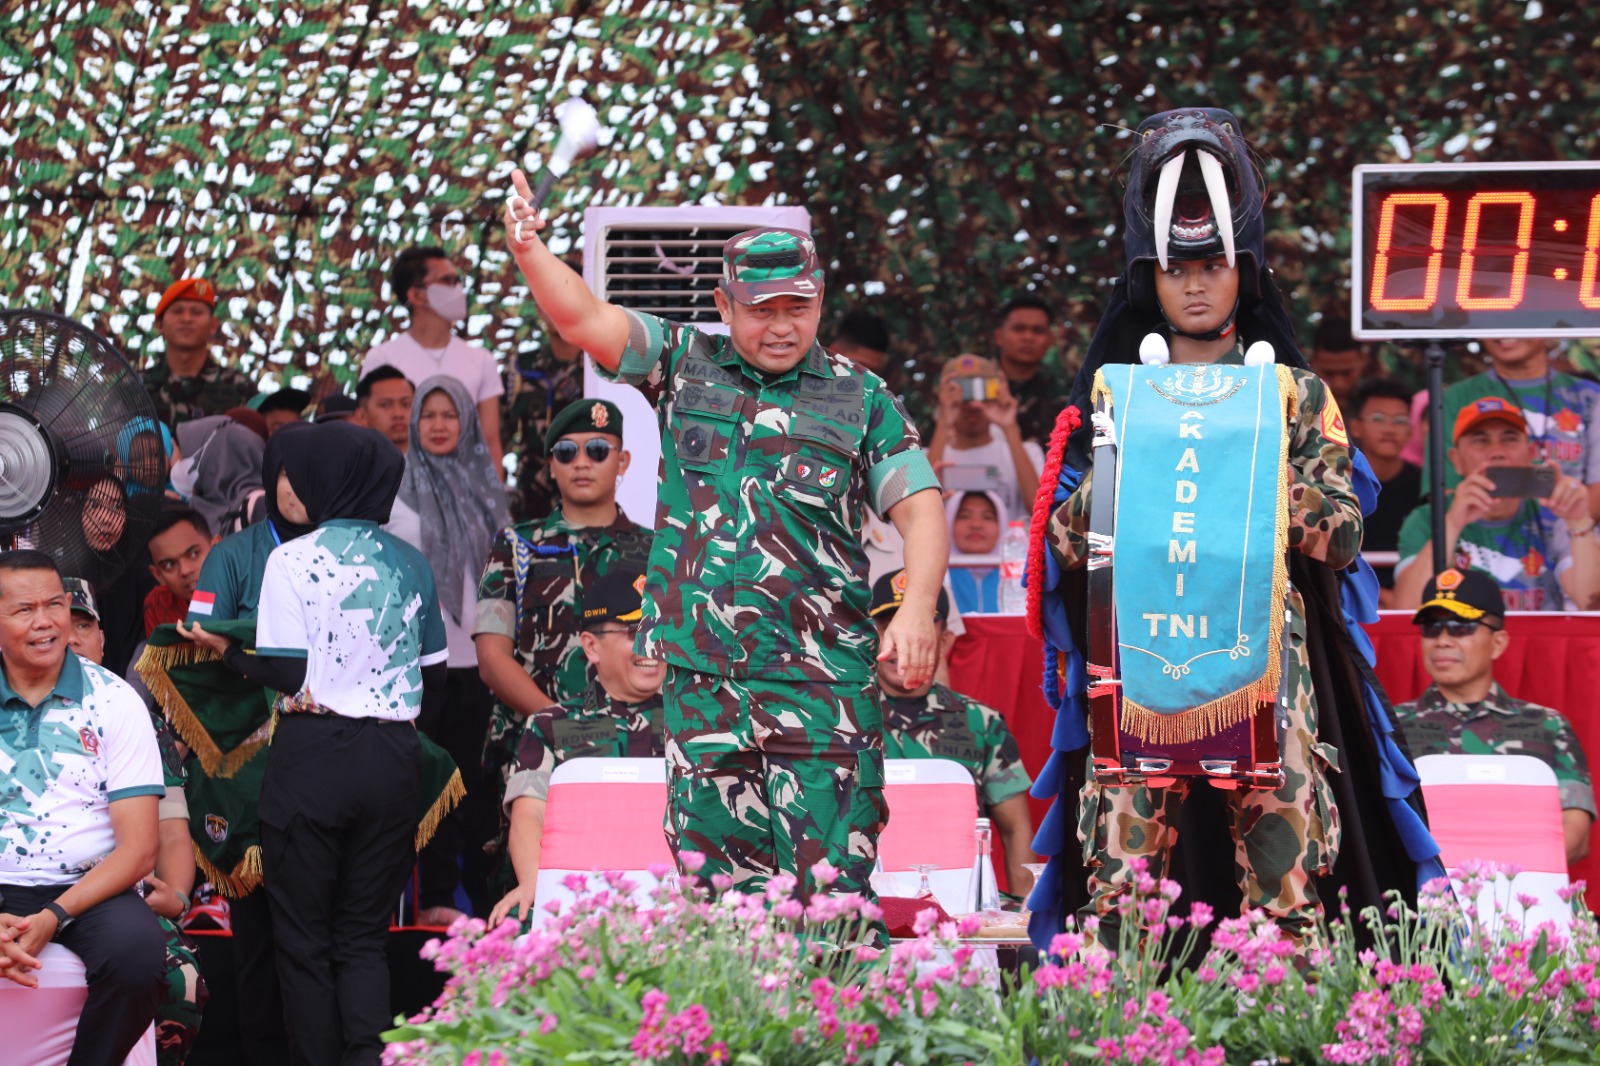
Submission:
<svg viewBox="0 0 1600 1066">
<path fill-rule="evenodd" d="M 736 679 L 870 683 L 864 509 L 939 483 L 904 410 L 821 344 L 765 375 L 725 336 L 626 314 L 610 376 L 661 419 L 640 651 Z"/>
</svg>

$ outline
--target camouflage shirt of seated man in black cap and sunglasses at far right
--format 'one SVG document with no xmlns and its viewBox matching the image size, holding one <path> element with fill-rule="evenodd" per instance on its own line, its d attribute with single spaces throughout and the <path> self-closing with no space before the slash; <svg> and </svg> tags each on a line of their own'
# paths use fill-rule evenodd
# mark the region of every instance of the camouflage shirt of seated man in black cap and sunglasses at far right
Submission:
<svg viewBox="0 0 1600 1066">
<path fill-rule="evenodd" d="M 1533 755 L 1555 771 L 1562 808 L 1595 816 L 1589 760 L 1578 735 L 1560 711 L 1512 699 L 1499 685 L 1478 703 L 1450 703 L 1438 685 L 1395 707 L 1395 725 L 1413 757 L 1421 755 Z"/>
</svg>

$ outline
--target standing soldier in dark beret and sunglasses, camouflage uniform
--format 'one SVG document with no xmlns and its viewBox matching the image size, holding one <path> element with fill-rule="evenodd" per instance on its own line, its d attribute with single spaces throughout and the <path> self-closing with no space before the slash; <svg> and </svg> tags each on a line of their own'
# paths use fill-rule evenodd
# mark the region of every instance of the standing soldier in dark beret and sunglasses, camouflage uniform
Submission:
<svg viewBox="0 0 1600 1066">
<path fill-rule="evenodd" d="M 502 789 L 528 715 L 582 696 L 594 671 L 578 642 L 579 575 L 621 560 L 643 565 L 650 530 L 616 506 L 627 469 L 622 411 L 608 400 L 574 400 L 544 437 L 560 506 L 494 538 L 478 583 L 472 637 L 478 672 L 496 696 L 483 749 L 490 787 Z"/>
</svg>

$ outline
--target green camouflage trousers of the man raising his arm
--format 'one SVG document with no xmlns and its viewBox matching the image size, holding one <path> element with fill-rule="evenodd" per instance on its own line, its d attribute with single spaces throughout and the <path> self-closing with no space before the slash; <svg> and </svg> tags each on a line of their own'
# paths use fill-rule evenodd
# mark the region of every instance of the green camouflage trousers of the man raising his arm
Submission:
<svg viewBox="0 0 1600 1066">
<path fill-rule="evenodd" d="M 872 893 L 883 800 L 882 717 L 869 685 L 770 682 L 667 667 L 667 844 L 760 892 L 827 860 L 834 892 Z"/>
</svg>

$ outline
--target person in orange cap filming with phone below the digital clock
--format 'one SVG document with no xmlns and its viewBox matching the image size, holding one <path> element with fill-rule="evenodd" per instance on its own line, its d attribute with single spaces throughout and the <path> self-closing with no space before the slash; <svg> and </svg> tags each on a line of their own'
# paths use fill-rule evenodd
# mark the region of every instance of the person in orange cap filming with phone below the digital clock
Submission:
<svg viewBox="0 0 1600 1066">
<path fill-rule="evenodd" d="M 1461 475 L 1445 512 L 1445 560 L 1494 576 L 1510 611 L 1594 610 L 1600 541 L 1584 485 L 1536 463 L 1522 410 L 1483 397 L 1456 415 L 1450 463 Z M 1395 607 L 1416 610 L 1434 576 L 1429 506 L 1400 527 Z"/>
</svg>

